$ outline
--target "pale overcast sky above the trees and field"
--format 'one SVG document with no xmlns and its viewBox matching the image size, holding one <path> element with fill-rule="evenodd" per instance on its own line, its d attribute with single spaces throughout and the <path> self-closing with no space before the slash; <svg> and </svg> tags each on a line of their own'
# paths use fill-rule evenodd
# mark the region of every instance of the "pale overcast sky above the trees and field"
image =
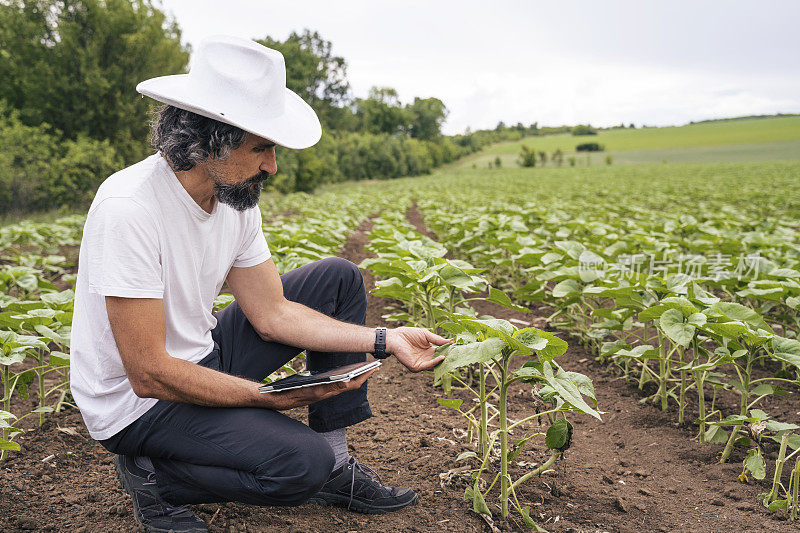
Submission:
<svg viewBox="0 0 800 533">
<path fill-rule="evenodd" d="M 158 1 L 158 0 L 156 0 Z M 445 133 L 591 123 L 679 125 L 800 113 L 800 1 L 161 0 L 208 35 L 319 31 L 353 94 L 435 96 Z"/>
</svg>

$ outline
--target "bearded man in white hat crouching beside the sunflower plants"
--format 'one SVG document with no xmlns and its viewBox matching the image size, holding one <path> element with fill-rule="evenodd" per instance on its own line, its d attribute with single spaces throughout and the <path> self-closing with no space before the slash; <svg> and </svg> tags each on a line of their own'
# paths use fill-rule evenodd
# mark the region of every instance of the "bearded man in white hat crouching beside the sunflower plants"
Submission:
<svg viewBox="0 0 800 533">
<path fill-rule="evenodd" d="M 418 372 L 447 341 L 364 327 L 363 280 L 343 259 L 278 275 L 258 196 L 277 171 L 275 145 L 313 145 L 319 121 L 286 88 L 274 50 L 217 37 L 194 60 L 187 75 L 139 84 L 167 104 L 153 125 L 159 153 L 109 177 L 86 220 L 71 361 L 89 432 L 117 454 L 148 531 L 206 531 L 190 503 L 414 504 L 412 490 L 382 485 L 348 454 L 345 428 L 371 416 L 370 373 L 282 393 L 258 386 L 300 349 L 312 371 L 375 352 Z M 225 281 L 236 301 L 213 315 Z M 278 412 L 305 405 L 310 427 Z"/>
</svg>

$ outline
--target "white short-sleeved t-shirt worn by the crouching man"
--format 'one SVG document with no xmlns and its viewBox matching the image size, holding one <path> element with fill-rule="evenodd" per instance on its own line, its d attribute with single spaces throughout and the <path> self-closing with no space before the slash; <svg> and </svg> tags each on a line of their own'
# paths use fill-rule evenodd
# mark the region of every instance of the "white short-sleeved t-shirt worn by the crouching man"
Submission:
<svg viewBox="0 0 800 533">
<path fill-rule="evenodd" d="M 78 262 L 71 388 L 89 434 L 103 440 L 158 401 L 125 375 L 105 296 L 160 298 L 166 350 L 197 363 L 214 347 L 214 298 L 231 267 L 270 257 L 258 207 L 204 211 L 159 154 L 106 179 L 89 208 Z"/>
</svg>

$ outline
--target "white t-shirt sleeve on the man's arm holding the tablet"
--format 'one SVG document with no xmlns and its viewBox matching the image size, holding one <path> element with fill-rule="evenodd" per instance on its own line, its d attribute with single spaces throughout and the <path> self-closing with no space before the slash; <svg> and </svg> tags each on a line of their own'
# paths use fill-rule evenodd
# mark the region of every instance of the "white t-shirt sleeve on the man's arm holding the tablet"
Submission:
<svg viewBox="0 0 800 533">
<path fill-rule="evenodd" d="M 125 298 L 163 298 L 159 231 L 154 218 L 130 198 L 106 198 L 86 219 L 89 292 Z"/>
</svg>

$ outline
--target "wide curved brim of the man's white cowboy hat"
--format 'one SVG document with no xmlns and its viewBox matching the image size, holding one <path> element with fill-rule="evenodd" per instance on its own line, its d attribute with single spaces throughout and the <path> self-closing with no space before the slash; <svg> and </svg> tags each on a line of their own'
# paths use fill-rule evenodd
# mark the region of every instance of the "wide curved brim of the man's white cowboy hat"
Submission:
<svg viewBox="0 0 800 533">
<path fill-rule="evenodd" d="M 286 148 L 299 150 L 315 145 L 322 137 L 322 125 L 317 114 L 294 91 L 284 90 L 283 114 L 259 117 L 255 113 L 211 111 L 219 106 L 208 102 L 204 93 L 189 83 L 188 74 L 160 76 L 136 86 L 137 92 L 153 100 L 231 124 Z"/>
</svg>

